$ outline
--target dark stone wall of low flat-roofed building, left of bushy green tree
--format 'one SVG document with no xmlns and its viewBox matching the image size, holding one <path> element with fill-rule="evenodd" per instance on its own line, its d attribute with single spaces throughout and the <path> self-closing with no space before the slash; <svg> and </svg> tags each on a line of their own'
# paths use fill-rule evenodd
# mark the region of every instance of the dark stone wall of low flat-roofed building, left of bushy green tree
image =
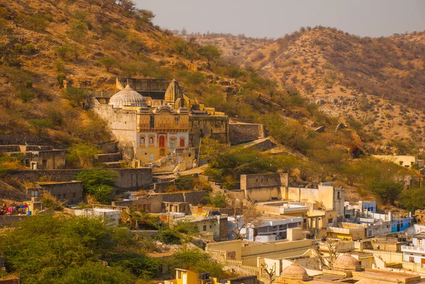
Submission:
<svg viewBox="0 0 425 284">
<path fill-rule="evenodd" d="M 83 183 L 81 181 L 38 183 L 38 185 L 50 192 L 57 200 L 68 200 L 68 204 L 78 204 L 83 201 Z"/>
</svg>

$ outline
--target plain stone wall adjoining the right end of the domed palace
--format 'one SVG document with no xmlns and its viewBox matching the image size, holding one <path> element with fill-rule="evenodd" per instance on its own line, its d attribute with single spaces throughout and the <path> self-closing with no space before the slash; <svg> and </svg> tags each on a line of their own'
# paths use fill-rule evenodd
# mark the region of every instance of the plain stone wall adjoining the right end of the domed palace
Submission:
<svg viewBox="0 0 425 284">
<path fill-rule="evenodd" d="M 262 124 L 229 123 L 230 144 L 249 142 L 264 137 Z"/>
</svg>

